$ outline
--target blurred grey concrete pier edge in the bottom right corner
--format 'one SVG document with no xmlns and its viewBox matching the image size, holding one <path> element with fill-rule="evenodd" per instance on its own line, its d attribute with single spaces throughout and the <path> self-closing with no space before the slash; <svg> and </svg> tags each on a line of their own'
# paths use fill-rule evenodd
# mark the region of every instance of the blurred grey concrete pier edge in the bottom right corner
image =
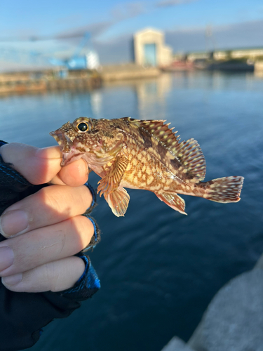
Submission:
<svg viewBox="0 0 263 351">
<path fill-rule="evenodd" d="M 218 291 L 188 343 L 174 337 L 162 351 L 263 351 L 262 330 L 263 255 Z"/>
</svg>

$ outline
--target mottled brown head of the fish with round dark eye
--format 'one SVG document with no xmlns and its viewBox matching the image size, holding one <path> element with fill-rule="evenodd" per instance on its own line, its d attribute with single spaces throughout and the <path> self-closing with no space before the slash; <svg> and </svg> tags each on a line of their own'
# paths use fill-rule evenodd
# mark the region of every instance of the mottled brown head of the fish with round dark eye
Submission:
<svg viewBox="0 0 263 351">
<path fill-rule="evenodd" d="M 60 145 L 62 166 L 80 158 L 97 165 L 110 161 L 122 145 L 120 133 L 109 122 L 108 119 L 79 117 L 50 132 Z"/>
</svg>

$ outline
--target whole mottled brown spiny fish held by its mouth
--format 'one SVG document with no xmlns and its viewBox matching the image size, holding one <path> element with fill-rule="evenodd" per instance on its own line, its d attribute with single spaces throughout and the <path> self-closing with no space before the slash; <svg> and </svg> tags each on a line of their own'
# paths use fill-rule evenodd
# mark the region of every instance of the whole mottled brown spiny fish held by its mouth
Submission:
<svg viewBox="0 0 263 351">
<path fill-rule="evenodd" d="M 124 216 L 130 196 L 126 188 L 149 190 L 184 215 L 178 194 L 203 197 L 220 203 L 240 200 L 243 177 L 205 179 L 205 158 L 194 138 L 180 142 L 180 135 L 164 120 L 130 117 L 93 119 L 79 117 L 50 135 L 60 145 L 62 166 L 84 159 L 101 180 L 97 193 Z"/>
</svg>

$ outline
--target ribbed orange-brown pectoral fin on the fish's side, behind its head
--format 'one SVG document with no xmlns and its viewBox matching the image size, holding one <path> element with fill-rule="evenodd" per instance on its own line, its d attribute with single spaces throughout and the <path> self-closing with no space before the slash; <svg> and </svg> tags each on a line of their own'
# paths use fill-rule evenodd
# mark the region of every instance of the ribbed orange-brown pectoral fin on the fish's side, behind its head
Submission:
<svg viewBox="0 0 263 351">
<path fill-rule="evenodd" d="M 111 168 L 107 171 L 106 176 L 104 176 L 98 183 L 99 186 L 97 187 L 97 192 L 100 192 L 100 196 L 102 196 L 102 194 L 107 195 L 119 187 L 121 178 L 123 178 L 127 166 L 128 159 L 124 155 L 116 157 Z"/>
</svg>

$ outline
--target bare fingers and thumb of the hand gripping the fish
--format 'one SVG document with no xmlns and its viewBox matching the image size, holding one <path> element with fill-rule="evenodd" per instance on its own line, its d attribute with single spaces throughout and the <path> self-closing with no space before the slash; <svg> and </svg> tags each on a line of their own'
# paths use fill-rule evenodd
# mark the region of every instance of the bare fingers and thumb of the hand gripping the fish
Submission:
<svg viewBox="0 0 263 351">
<path fill-rule="evenodd" d="M 79 159 L 63 168 L 59 147 L 38 149 L 11 143 L 0 148 L 5 162 L 30 183 L 50 183 L 8 207 L 0 218 L 0 277 L 11 291 L 69 289 L 83 274 L 74 256 L 93 237 L 94 227 L 81 216 L 92 202 L 88 167 Z"/>
</svg>

